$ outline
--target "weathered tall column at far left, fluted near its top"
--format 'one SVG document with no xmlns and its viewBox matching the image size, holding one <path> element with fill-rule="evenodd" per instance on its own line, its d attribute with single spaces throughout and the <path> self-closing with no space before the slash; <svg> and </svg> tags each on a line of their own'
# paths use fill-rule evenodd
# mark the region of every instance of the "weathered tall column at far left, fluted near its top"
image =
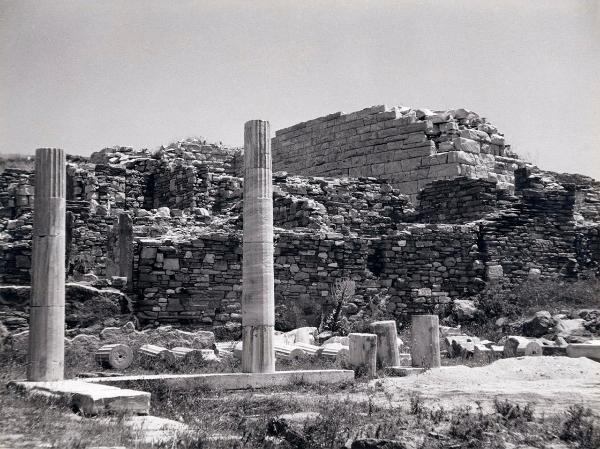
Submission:
<svg viewBox="0 0 600 449">
<path fill-rule="evenodd" d="M 36 151 L 27 365 L 30 381 L 62 380 L 64 376 L 65 177 L 63 150 Z"/>
</svg>

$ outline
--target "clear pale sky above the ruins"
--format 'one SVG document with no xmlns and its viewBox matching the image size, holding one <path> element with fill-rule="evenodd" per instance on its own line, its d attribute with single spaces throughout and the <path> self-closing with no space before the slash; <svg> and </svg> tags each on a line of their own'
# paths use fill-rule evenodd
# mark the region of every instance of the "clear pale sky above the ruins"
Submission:
<svg viewBox="0 0 600 449">
<path fill-rule="evenodd" d="M 478 112 L 600 179 L 596 0 L 0 0 L 0 153 L 240 145 L 375 104 Z"/>
</svg>

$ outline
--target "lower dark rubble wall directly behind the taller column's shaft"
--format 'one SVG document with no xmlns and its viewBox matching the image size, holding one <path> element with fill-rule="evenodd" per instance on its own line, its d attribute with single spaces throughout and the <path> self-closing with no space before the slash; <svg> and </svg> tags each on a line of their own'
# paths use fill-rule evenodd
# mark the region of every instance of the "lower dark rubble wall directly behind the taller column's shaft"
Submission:
<svg viewBox="0 0 600 449">
<path fill-rule="evenodd" d="M 357 284 L 356 312 L 375 293 L 390 296 L 388 311 L 397 316 L 439 311 L 474 285 L 476 243 L 476 227 L 458 225 L 407 225 L 386 238 L 280 232 L 274 259 L 278 321 L 318 324 L 322 304 L 341 278 Z M 240 234 L 186 242 L 140 239 L 134 260 L 143 321 L 208 326 L 241 319 Z"/>
</svg>

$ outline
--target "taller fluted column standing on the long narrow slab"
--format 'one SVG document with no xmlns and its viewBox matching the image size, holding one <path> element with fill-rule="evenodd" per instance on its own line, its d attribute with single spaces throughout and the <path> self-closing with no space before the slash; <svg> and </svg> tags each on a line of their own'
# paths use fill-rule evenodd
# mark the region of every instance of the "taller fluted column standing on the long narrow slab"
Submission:
<svg viewBox="0 0 600 449">
<path fill-rule="evenodd" d="M 244 126 L 244 260 L 242 371 L 275 371 L 273 327 L 273 185 L 269 122 Z"/>
</svg>

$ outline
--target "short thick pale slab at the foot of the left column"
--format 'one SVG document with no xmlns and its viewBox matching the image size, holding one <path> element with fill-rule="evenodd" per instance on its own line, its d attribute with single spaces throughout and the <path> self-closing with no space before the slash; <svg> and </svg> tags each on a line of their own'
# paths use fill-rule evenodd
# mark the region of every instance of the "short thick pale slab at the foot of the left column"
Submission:
<svg viewBox="0 0 600 449">
<path fill-rule="evenodd" d="M 110 385 L 88 383 L 80 380 L 55 382 L 12 381 L 9 387 L 31 395 L 50 395 L 67 398 L 76 410 L 85 415 L 103 412 L 127 412 L 148 414 L 150 393 L 117 388 Z"/>
</svg>

